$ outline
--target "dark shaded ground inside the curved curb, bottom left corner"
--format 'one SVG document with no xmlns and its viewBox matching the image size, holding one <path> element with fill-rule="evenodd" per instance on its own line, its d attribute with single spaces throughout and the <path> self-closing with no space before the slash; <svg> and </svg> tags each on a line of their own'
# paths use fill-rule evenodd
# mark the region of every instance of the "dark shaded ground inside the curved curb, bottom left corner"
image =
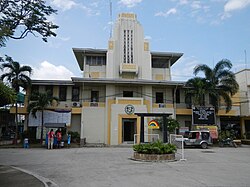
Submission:
<svg viewBox="0 0 250 187">
<path fill-rule="evenodd" d="M 15 167 L 0 165 L 1 187 L 45 187 L 42 181 Z"/>
</svg>

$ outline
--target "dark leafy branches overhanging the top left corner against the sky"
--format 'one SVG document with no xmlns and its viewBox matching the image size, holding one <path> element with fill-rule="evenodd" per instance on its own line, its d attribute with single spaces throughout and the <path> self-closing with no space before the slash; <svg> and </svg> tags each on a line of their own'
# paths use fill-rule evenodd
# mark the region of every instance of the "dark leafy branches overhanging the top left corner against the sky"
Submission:
<svg viewBox="0 0 250 187">
<path fill-rule="evenodd" d="M 23 39 L 29 33 L 41 35 L 45 42 L 56 36 L 53 30 L 58 26 L 48 20 L 56 10 L 43 0 L 1 0 L 0 12 L 0 47 L 6 46 L 9 38 Z"/>
</svg>

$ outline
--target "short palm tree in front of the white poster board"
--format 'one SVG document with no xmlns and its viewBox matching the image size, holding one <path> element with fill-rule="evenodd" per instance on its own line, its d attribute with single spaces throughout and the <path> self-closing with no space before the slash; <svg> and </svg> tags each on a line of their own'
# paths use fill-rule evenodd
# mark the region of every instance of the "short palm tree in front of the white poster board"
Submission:
<svg viewBox="0 0 250 187">
<path fill-rule="evenodd" d="M 43 126 L 44 126 L 44 110 L 49 106 L 52 105 L 52 103 L 56 101 L 58 103 L 58 98 L 51 97 L 51 94 L 46 93 L 33 93 L 30 97 L 30 103 L 28 105 L 28 112 L 33 115 L 33 117 L 36 118 L 36 113 L 38 111 L 41 111 L 42 113 L 42 125 L 41 125 L 41 137 L 40 142 L 43 141 Z"/>
</svg>

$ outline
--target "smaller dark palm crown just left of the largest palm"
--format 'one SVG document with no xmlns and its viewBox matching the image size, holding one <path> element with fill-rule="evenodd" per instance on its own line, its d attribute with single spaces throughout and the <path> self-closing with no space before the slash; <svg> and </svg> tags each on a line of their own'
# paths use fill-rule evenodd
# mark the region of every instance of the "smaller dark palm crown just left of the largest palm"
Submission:
<svg viewBox="0 0 250 187">
<path fill-rule="evenodd" d="M 188 101 L 188 104 L 205 105 L 204 96 L 206 94 L 206 80 L 204 78 L 195 77 L 189 79 L 185 87 L 187 88 L 185 90 L 185 100 Z"/>
</svg>

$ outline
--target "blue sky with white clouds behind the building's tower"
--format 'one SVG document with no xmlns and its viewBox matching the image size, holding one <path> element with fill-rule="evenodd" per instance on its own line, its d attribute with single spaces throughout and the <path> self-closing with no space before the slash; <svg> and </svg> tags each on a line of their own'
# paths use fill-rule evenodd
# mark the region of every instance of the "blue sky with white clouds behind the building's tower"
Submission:
<svg viewBox="0 0 250 187">
<path fill-rule="evenodd" d="M 110 2 L 112 11 L 110 11 Z M 45 43 L 39 35 L 8 40 L 0 55 L 33 68 L 32 79 L 82 77 L 72 48 L 107 49 L 118 14 L 137 14 L 150 50 L 184 55 L 172 80 L 194 77 L 198 64 L 229 59 L 233 72 L 250 68 L 250 0 L 47 0 L 59 25 Z M 112 14 L 110 14 L 112 12 Z M 112 16 L 111 16 L 112 15 Z M 18 31 L 17 31 L 18 32 Z M 1 74 L 1 73 L 0 73 Z"/>
</svg>

